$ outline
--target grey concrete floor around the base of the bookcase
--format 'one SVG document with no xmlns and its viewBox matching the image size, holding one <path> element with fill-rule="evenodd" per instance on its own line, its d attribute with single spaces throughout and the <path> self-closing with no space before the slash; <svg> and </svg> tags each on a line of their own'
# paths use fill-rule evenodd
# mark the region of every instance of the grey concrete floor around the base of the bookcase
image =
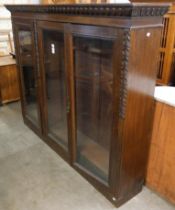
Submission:
<svg viewBox="0 0 175 210">
<path fill-rule="evenodd" d="M 18 103 L 0 107 L 0 210 L 115 207 L 22 121 Z M 175 210 L 149 189 L 119 210 Z"/>
</svg>

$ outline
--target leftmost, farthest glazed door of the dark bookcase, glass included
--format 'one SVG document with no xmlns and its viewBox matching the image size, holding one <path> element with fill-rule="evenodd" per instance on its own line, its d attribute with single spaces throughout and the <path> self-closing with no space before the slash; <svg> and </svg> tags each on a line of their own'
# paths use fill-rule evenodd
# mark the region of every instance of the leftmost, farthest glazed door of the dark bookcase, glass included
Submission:
<svg viewBox="0 0 175 210">
<path fill-rule="evenodd" d="M 24 120 L 41 133 L 39 74 L 35 49 L 34 24 L 14 21 L 14 34 L 20 72 L 22 111 Z"/>
</svg>

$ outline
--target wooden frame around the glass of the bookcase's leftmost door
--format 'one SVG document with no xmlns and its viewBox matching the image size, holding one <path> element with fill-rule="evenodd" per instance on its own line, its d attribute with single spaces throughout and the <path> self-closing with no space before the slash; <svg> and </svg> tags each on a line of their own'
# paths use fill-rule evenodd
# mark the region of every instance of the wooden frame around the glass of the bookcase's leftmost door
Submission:
<svg viewBox="0 0 175 210">
<path fill-rule="evenodd" d="M 14 34 L 14 39 L 15 39 L 15 49 L 16 49 L 16 54 L 17 54 L 17 67 L 18 67 L 18 78 L 19 78 L 19 86 L 20 86 L 20 97 L 21 97 L 21 108 L 22 108 L 22 115 L 24 122 L 35 132 L 37 133 L 40 137 L 42 136 L 43 132 L 43 127 L 42 127 L 42 113 L 41 113 L 41 95 L 40 95 L 40 75 L 38 71 L 38 56 L 37 56 L 37 48 L 36 48 L 36 43 L 37 43 L 37 37 L 35 36 L 35 23 L 32 20 L 25 20 L 22 21 L 21 19 L 12 19 L 13 22 L 13 34 Z M 19 38 L 18 38 L 18 31 L 20 29 L 27 29 L 31 31 L 32 35 L 32 60 L 33 60 L 33 66 L 34 66 L 34 76 L 35 76 L 35 81 L 36 81 L 36 91 L 37 91 L 37 115 L 38 115 L 38 123 L 39 127 L 36 126 L 35 123 L 32 122 L 30 117 L 28 117 L 26 113 L 26 99 L 25 99 L 25 92 L 24 92 L 24 80 L 23 80 L 23 73 L 22 73 L 22 61 L 21 61 L 21 56 L 20 56 L 20 43 L 19 43 Z"/>
</svg>

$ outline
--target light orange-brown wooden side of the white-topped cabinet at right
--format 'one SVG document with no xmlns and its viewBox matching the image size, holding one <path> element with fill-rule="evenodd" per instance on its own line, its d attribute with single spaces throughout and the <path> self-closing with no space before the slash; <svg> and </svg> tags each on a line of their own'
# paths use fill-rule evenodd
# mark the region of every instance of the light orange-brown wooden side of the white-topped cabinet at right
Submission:
<svg viewBox="0 0 175 210">
<path fill-rule="evenodd" d="M 175 108 L 156 102 L 146 183 L 175 204 Z"/>
</svg>

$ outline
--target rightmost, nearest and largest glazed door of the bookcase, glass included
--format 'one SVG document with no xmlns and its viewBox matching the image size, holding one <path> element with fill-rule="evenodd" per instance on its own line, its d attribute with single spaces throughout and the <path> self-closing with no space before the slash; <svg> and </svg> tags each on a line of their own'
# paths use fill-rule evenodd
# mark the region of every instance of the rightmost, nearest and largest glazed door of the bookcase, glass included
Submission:
<svg viewBox="0 0 175 210">
<path fill-rule="evenodd" d="M 73 164 L 110 185 L 116 30 L 69 26 Z"/>
</svg>

